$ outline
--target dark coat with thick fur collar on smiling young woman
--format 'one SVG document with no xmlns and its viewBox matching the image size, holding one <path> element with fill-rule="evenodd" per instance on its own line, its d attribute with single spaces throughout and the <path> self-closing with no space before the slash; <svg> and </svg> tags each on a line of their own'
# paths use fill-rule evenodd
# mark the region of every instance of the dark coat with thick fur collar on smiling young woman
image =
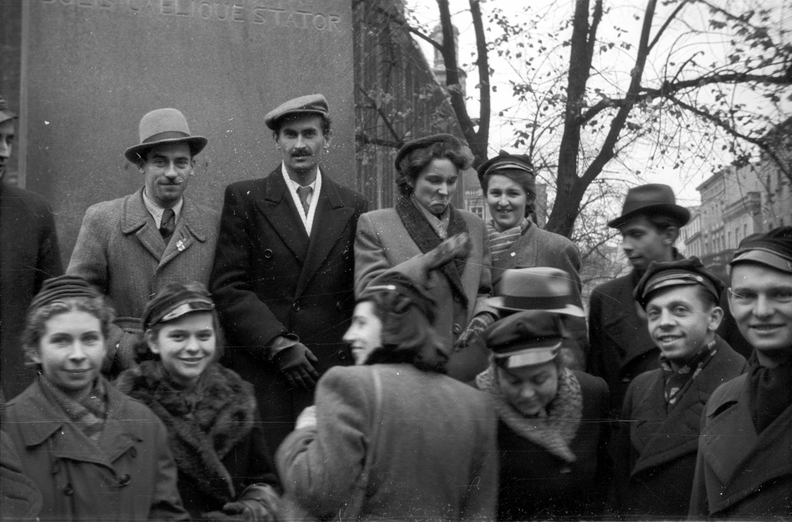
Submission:
<svg viewBox="0 0 792 522">
<path fill-rule="evenodd" d="M 211 364 L 201 376 L 201 396 L 191 409 L 163 385 L 162 372 L 154 368 L 158 365 L 145 361 L 128 369 L 116 386 L 165 424 L 179 469 L 179 493 L 190 516 L 222 510 L 251 484 L 279 489 L 253 386 L 230 369 Z"/>
</svg>

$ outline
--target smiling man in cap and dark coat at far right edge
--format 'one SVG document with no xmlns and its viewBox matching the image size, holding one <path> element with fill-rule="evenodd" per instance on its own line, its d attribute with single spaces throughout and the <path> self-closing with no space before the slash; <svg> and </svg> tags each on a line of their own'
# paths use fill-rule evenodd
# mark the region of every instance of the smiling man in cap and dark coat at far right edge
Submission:
<svg viewBox="0 0 792 522">
<path fill-rule="evenodd" d="M 789 520 L 792 513 L 792 227 L 734 252 L 729 307 L 754 348 L 748 372 L 702 416 L 691 519 Z"/>
</svg>

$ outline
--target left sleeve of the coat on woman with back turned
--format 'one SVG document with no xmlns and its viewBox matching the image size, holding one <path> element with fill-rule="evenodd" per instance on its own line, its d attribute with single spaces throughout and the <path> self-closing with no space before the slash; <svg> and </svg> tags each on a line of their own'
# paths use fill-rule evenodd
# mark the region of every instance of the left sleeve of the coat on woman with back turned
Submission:
<svg viewBox="0 0 792 522">
<path fill-rule="evenodd" d="M 292 432 L 276 453 L 284 490 L 320 518 L 337 515 L 354 497 L 369 443 L 371 376 L 344 370 L 334 367 L 319 380 L 316 426 Z"/>
</svg>

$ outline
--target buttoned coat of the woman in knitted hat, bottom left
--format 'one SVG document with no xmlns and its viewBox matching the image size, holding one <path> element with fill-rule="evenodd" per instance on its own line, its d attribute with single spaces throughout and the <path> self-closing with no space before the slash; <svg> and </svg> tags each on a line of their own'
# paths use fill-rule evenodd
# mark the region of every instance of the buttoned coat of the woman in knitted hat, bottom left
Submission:
<svg viewBox="0 0 792 522">
<path fill-rule="evenodd" d="M 3 429 L 44 501 L 40 520 L 188 520 L 165 426 L 107 385 L 108 410 L 91 441 L 36 380 L 11 399 Z"/>
</svg>

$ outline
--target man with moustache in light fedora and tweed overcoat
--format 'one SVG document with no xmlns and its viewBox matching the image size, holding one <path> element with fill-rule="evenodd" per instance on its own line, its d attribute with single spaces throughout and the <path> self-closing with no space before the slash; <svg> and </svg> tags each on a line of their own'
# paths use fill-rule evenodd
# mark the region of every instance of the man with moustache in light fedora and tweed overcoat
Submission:
<svg viewBox="0 0 792 522">
<path fill-rule="evenodd" d="M 195 157 L 208 140 L 190 134 L 174 108 L 143 115 L 140 142 L 124 152 L 143 176 L 131 195 L 89 207 L 67 274 L 93 283 L 112 300 L 110 374 L 134 362 L 143 307 L 169 282 L 208 285 L 219 213 L 185 196 Z"/>
</svg>

